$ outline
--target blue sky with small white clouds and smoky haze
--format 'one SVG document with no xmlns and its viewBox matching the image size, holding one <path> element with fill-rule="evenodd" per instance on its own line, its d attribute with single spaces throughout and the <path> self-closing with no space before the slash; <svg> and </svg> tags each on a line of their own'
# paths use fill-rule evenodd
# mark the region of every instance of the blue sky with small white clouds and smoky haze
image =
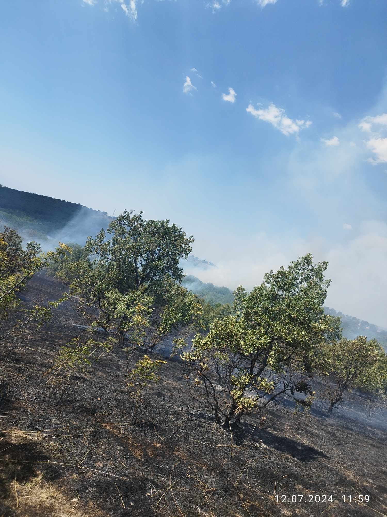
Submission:
<svg viewBox="0 0 387 517">
<path fill-rule="evenodd" d="M 312 251 L 387 327 L 385 0 L 15 0 L 0 183 L 195 236 L 252 287 Z"/>
</svg>

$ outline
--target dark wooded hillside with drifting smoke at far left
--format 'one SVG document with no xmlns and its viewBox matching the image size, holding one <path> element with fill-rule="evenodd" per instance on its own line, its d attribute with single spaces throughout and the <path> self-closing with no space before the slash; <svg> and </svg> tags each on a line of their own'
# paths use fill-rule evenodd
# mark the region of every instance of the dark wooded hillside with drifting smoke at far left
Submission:
<svg viewBox="0 0 387 517">
<path fill-rule="evenodd" d="M 0 225 L 14 227 L 25 240 L 46 247 L 58 240 L 84 244 L 88 235 L 106 228 L 111 220 L 106 212 L 79 203 L 0 185 Z"/>
</svg>

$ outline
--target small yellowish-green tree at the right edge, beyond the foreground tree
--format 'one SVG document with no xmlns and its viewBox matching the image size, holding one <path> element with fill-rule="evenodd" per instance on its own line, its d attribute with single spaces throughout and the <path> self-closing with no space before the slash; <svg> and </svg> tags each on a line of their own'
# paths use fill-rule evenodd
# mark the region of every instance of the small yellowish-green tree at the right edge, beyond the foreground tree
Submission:
<svg viewBox="0 0 387 517">
<path fill-rule="evenodd" d="M 365 336 L 323 342 L 318 347 L 319 369 L 329 401 L 328 414 L 343 401 L 346 391 L 359 388 L 378 393 L 387 388 L 386 355 L 376 339 Z"/>
</svg>

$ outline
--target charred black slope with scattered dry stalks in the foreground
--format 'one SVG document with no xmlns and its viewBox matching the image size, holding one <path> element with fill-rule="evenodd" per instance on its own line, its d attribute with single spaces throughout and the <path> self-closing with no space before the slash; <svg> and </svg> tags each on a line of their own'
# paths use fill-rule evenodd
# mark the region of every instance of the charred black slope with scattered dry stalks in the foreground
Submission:
<svg viewBox="0 0 387 517">
<path fill-rule="evenodd" d="M 60 295 L 59 284 L 38 276 L 24 301 Z M 387 514 L 380 425 L 315 414 L 299 430 L 299 416 L 282 404 L 263 428 L 247 419 L 231 436 L 190 414 L 183 367 L 172 360 L 133 425 L 119 348 L 74 377 L 55 408 L 64 379 L 53 385 L 47 372 L 59 346 L 82 331 L 74 323 L 83 324 L 71 303 L 60 306 L 36 340 L 1 363 L 0 516 Z"/>
</svg>

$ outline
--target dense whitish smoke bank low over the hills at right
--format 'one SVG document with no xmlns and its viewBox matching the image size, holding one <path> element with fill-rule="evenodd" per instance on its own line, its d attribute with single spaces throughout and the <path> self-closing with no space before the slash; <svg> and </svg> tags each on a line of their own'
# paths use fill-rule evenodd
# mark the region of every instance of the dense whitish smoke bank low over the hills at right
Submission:
<svg viewBox="0 0 387 517">
<path fill-rule="evenodd" d="M 238 253 L 235 252 L 238 250 Z M 211 254 L 213 252 L 213 255 Z M 217 267 L 201 269 L 186 263 L 184 271 L 202 282 L 225 285 L 232 290 L 238 285 L 251 289 L 262 282 L 271 269 L 287 266 L 298 256 L 312 252 L 315 262 L 329 262 L 327 278 L 332 280 L 326 305 L 345 314 L 352 314 L 380 326 L 387 326 L 384 304 L 387 292 L 387 224 L 365 221 L 357 234 L 346 236 L 340 244 L 332 245 L 319 237 L 287 238 L 264 232 L 249 241 L 229 237 L 229 247 L 208 251 Z"/>
</svg>

